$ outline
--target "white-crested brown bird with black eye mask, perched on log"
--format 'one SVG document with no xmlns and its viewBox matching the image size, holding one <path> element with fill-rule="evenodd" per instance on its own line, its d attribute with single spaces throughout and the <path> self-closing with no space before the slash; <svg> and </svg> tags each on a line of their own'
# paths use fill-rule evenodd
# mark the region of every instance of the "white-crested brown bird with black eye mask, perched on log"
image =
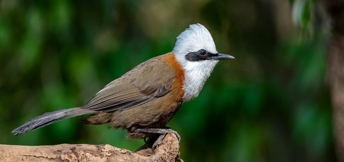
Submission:
<svg viewBox="0 0 344 162">
<path fill-rule="evenodd" d="M 227 59 L 234 57 L 217 52 L 213 37 L 203 25 L 189 25 L 176 37 L 171 52 L 151 58 L 110 82 L 84 106 L 44 113 L 12 133 L 18 136 L 90 114 L 82 120 L 84 124 L 126 129 L 128 139 L 154 138 L 154 152 L 166 134 L 174 133 L 180 141 L 180 135 L 166 124 L 184 102 L 198 96 L 219 60 Z"/>
</svg>

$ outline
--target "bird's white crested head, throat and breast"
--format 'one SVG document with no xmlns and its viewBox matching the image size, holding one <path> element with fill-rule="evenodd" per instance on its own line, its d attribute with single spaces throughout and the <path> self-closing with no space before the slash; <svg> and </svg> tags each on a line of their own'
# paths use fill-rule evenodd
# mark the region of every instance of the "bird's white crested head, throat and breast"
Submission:
<svg viewBox="0 0 344 162">
<path fill-rule="evenodd" d="M 172 53 L 182 65 L 185 72 L 184 102 L 197 97 L 205 81 L 213 71 L 218 59 L 201 57 L 198 53 L 204 50 L 208 54 L 218 54 L 213 37 L 201 24 L 192 24 L 182 32 L 175 43 Z M 210 55 L 209 55 L 210 56 Z"/>
</svg>

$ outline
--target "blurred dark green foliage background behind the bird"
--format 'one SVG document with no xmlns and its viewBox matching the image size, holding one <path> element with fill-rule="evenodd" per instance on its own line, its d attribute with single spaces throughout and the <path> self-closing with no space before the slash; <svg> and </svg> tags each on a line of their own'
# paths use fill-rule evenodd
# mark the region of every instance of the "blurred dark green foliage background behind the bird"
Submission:
<svg viewBox="0 0 344 162">
<path fill-rule="evenodd" d="M 167 125 L 182 137 L 184 161 L 336 160 L 326 32 L 300 31 L 288 0 L 1 0 L 0 144 L 135 151 L 143 140 L 83 125 L 83 117 L 10 132 L 44 112 L 84 105 L 139 63 L 170 52 L 194 23 L 236 59 L 221 61 Z"/>
</svg>

